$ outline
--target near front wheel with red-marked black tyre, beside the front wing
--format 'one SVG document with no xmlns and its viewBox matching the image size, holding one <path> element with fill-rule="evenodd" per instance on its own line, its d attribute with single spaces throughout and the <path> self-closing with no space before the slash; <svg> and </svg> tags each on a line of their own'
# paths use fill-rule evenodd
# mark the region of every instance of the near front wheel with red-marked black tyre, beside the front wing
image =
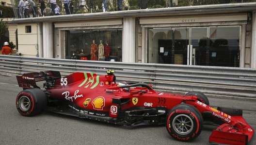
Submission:
<svg viewBox="0 0 256 145">
<path fill-rule="evenodd" d="M 194 140 L 202 131 L 202 114 L 188 104 L 177 105 L 166 116 L 166 129 L 178 141 Z"/>
</svg>

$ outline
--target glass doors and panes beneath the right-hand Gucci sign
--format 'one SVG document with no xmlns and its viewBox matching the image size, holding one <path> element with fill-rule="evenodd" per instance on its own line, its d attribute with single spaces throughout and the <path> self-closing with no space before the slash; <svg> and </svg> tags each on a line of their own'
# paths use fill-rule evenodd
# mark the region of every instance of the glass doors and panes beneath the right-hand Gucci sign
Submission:
<svg viewBox="0 0 256 145">
<path fill-rule="evenodd" d="M 150 28 L 148 44 L 149 63 L 239 67 L 240 26 Z"/>
</svg>

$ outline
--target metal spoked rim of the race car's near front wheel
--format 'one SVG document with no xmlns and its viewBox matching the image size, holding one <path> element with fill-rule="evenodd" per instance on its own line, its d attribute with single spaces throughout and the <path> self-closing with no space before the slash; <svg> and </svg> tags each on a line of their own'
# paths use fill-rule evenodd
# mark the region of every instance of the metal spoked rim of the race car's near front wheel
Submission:
<svg viewBox="0 0 256 145">
<path fill-rule="evenodd" d="M 193 121 L 186 114 L 179 114 L 173 119 L 173 127 L 178 134 L 187 135 L 193 129 Z"/>
</svg>

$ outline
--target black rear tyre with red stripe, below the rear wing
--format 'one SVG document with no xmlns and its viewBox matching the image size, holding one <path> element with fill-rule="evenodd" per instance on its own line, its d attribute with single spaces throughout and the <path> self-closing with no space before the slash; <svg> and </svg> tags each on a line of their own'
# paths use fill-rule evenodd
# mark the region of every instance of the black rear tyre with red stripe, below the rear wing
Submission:
<svg viewBox="0 0 256 145">
<path fill-rule="evenodd" d="M 16 108 L 23 116 L 37 115 L 46 107 L 46 94 L 38 88 L 23 90 L 16 97 Z"/>
</svg>

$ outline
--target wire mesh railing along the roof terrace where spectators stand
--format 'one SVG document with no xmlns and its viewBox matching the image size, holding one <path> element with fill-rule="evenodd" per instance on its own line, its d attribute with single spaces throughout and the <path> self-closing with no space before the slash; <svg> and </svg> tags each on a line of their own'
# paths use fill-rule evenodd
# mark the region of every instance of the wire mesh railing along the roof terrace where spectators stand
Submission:
<svg viewBox="0 0 256 145">
<path fill-rule="evenodd" d="M 19 14 L 18 2 L 15 4 L 14 0 L 11 1 L 16 18 L 24 18 L 22 17 L 23 12 Z M 51 13 L 51 6 L 48 0 L 45 0 L 46 8 L 43 14 L 40 11 L 39 2 L 33 1 L 36 2 L 36 9 L 33 11 L 34 8 L 30 5 L 30 10 L 31 13 L 35 13 L 35 17 L 54 15 Z M 60 6 L 61 15 L 65 15 L 64 0 L 56 1 L 56 4 Z M 106 3 L 103 4 L 103 2 Z M 68 11 L 70 11 L 68 14 L 245 2 L 256 2 L 256 0 L 68 0 Z M 20 11 L 22 11 L 22 8 Z"/>
</svg>

